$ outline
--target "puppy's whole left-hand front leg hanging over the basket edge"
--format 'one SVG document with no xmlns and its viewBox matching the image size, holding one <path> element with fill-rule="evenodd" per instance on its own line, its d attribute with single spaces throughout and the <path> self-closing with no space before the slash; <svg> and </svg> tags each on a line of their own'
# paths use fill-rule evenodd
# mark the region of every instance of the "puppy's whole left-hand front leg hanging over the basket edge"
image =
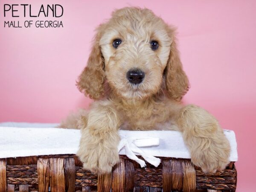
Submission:
<svg viewBox="0 0 256 192">
<path fill-rule="evenodd" d="M 94 103 L 88 116 L 79 122 L 81 140 L 77 152 L 84 169 L 97 174 L 111 172 L 119 162 L 119 118 L 108 103 Z"/>
</svg>

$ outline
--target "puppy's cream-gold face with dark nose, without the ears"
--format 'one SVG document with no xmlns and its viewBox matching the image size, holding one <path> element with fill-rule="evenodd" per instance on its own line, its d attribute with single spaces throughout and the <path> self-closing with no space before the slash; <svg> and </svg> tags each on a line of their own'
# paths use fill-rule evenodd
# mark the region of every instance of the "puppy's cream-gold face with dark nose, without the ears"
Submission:
<svg viewBox="0 0 256 192">
<path fill-rule="evenodd" d="M 117 11 L 105 24 L 99 46 L 106 80 L 125 99 L 143 99 L 158 92 L 172 39 L 167 26 L 151 11 Z"/>
</svg>

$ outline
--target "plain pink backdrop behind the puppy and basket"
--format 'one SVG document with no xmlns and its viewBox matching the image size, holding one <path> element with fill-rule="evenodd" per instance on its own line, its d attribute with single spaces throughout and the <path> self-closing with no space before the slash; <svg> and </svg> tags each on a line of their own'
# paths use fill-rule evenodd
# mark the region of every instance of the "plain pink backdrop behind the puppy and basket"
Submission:
<svg viewBox="0 0 256 192">
<path fill-rule="evenodd" d="M 255 0 L 48 0 L 44 3 L 64 7 L 64 28 L 3 27 L 3 20 L 17 20 L 3 17 L 4 3 L 31 3 L 35 13 L 42 2 L 0 3 L 0 121 L 60 122 L 70 111 L 86 107 L 91 100 L 76 89 L 75 80 L 86 64 L 94 28 L 114 8 L 145 6 L 178 27 L 181 58 L 191 83 L 184 102 L 207 109 L 223 128 L 236 132 L 237 191 L 255 191 Z"/>
</svg>

